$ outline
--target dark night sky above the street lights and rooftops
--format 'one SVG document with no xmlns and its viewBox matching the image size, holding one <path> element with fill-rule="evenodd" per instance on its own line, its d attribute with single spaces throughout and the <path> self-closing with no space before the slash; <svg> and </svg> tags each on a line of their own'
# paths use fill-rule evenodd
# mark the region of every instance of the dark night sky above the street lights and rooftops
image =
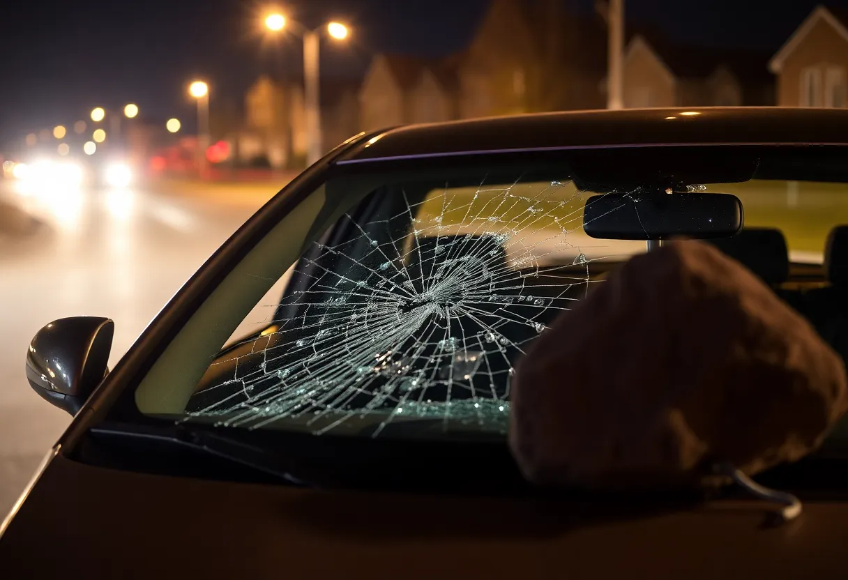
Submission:
<svg viewBox="0 0 848 580">
<path fill-rule="evenodd" d="M 563 0 L 573 12 L 593 0 Z M 625 0 L 631 23 L 678 41 L 777 50 L 815 0 Z M 829 6 L 848 8 L 848 0 Z M 0 9 L 0 143 L 85 119 L 93 106 L 135 102 L 148 119 L 190 120 L 185 86 L 204 77 L 212 102 L 239 106 L 257 75 L 298 78 L 299 41 L 268 42 L 254 0 L 38 0 Z M 322 47 L 322 74 L 360 75 L 375 52 L 442 55 L 469 42 L 488 0 L 291 0 L 308 25 L 340 20 L 353 36 Z M 212 105 L 214 106 L 214 104 Z"/>
</svg>

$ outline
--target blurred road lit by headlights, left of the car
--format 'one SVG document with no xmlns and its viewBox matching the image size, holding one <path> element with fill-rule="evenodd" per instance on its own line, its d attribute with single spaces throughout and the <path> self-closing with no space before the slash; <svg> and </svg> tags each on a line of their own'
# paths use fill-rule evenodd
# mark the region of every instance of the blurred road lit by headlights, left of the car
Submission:
<svg viewBox="0 0 848 580">
<path fill-rule="evenodd" d="M 114 365 L 188 276 L 278 188 L 176 184 L 23 196 L 0 180 L 0 520 L 70 422 L 26 382 L 31 337 L 63 316 L 109 316 Z M 28 215 L 41 226 L 31 227 Z"/>
</svg>

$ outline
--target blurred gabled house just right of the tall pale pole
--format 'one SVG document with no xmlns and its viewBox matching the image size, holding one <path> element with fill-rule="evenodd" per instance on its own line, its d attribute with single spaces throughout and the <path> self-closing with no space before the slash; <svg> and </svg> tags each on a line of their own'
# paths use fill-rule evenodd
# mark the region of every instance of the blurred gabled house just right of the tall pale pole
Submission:
<svg viewBox="0 0 848 580">
<path fill-rule="evenodd" d="M 635 33 L 623 61 L 624 106 L 738 107 L 772 104 L 767 58 L 758 53 L 680 45 Z"/>
</svg>

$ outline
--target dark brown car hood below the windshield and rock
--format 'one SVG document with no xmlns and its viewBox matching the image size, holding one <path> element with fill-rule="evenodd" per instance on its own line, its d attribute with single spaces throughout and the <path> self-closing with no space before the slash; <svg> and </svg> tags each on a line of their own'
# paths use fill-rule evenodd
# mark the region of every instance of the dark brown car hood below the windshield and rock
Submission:
<svg viewBox="0 0 848 580">
<path fill-rule="evenodd" d="M 845 577 L 848 505 L 683 510 L 316 491 L 57 455 L 0 538 L 3 577 Z"/>
</svg>

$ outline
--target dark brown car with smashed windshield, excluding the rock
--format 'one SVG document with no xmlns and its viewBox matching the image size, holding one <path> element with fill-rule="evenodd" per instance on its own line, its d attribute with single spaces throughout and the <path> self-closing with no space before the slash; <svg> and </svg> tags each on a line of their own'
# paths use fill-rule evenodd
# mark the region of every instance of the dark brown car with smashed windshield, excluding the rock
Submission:
<svg viewBox="0 0 848 580">
<path fill-rule="evenodd" d="M 36 334 L 31 387 L 74 418 L 0 527 L 0 573 L 845 577 L 848 426 L 757 477 L 804 503 L 778 527 L 733 488 L 537 488 L 506 433 L 527 345 L 674 234 L 717 238 L 845 357 L 846 134 L 836 109 L 644 109 L 349 139 L 114 369 L 108 318 Z M 710 209 L 715 193 L 744 224 L 736 205 Z M 700 200 L 685 215 L 700 225 L 616 234 L 586 217 L 608 194 Z"/>
</svg>

